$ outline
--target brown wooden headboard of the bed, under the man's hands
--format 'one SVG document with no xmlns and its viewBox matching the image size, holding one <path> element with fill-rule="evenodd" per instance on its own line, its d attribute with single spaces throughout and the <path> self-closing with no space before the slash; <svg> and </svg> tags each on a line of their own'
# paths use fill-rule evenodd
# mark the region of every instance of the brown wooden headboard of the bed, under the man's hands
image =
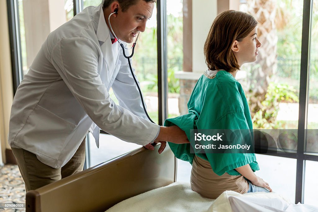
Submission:
<svg viewBox="0 0 318 212">
<path fill-rule="evenodd" d="M 26 194 L 26 211 L 105 211 L 143 192 L 176 181 L 176 158 L 144 147 Z"/>
</svg>

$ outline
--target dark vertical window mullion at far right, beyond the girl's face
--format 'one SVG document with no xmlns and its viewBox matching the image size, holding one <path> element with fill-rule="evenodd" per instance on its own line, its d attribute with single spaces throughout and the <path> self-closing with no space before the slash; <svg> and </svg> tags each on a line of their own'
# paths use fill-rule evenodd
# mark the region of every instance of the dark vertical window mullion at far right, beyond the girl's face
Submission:
<svg viewBox="0 0 318 212">
<path fill-rule="evenodd" d="M 311 30 L 312 0 L 304 0 L 301 36 L 301 72 L 299 90 L 299 118 L 297 142 L 297 167 L 296 167 L 296 196 L 295 203 L 304 203 L 305 186 L 305 155 L 304 144 L 306 141 L 307 114 L 308 114 L 308 79 L 310 58 L 310 30 Z"/>
</svg>

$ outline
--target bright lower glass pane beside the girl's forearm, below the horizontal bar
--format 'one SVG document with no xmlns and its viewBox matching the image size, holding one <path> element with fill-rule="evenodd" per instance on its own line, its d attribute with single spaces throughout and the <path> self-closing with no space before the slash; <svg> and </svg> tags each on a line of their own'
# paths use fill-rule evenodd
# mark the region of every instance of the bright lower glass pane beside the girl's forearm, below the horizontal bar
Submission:
<svg viewBox="0 0 318 212">
<path fill-rule="evenodd" d="M 273 189 L 273 192 L 282 194 L 295 201 L 296 194 L 296 159 L 256 154 L 259 171 L 255 174 Z M 282 183 L 284 182 L 284 183 Z"/>
</svg>

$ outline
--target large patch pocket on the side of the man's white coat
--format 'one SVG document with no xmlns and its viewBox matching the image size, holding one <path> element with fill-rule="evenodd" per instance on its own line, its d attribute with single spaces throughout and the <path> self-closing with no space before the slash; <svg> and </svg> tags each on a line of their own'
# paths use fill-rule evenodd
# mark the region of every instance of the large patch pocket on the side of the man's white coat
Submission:
<svg viewBox="0 0 318 212">
<path fill-rule="evenodd" d="M 34 151 L 58 160 L 62 148 L 76 127 L 37 105 L 18 134 L 16 143 L 31 152 Z"/>
</svg>

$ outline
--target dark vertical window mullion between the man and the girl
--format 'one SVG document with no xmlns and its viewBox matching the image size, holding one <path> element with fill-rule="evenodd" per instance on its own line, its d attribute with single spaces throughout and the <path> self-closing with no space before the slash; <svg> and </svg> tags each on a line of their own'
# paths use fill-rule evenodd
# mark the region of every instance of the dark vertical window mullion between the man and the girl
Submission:
<svg viewBox="0 0 318 212">
<path fill-rule="evenodd" d="M 167 1 L 157 1 L 158 122 L 168 117 Z"/>
</svg>

